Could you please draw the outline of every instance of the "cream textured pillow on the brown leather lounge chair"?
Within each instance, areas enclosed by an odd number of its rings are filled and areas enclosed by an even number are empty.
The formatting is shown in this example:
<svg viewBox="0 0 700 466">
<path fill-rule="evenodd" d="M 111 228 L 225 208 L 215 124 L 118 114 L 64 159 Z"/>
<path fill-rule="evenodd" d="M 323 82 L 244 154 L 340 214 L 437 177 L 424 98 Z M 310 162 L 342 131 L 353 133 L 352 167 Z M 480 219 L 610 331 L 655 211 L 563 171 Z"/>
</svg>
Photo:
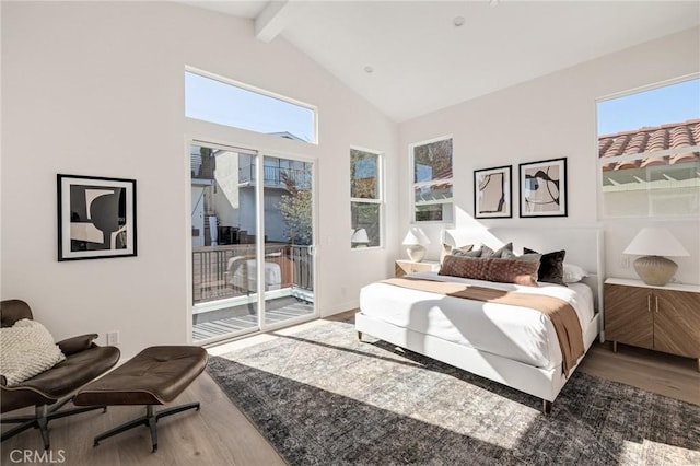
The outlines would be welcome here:
<svg viewBox="0 0 700 466">
<path fill-rule="evenodd" d="M 0 328 L 0 374 L 16 385 L 63 361 L 51 334 L 36 321 L 23 318 Z"/>
</svg>

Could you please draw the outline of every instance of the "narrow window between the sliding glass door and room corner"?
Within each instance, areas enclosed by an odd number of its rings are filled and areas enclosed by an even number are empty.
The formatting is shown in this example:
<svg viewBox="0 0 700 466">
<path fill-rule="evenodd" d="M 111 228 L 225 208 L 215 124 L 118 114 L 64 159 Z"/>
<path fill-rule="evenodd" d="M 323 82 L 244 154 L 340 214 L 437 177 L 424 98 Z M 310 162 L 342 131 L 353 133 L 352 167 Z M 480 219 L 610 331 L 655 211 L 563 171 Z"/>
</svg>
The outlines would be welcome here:
<svg viewBox="0 0 700 466">
<path fill-rule="evenodd" d="M 353 249 L 382 245 L 380 155 L 350 149 L 350 214 Z"/>
</svg>

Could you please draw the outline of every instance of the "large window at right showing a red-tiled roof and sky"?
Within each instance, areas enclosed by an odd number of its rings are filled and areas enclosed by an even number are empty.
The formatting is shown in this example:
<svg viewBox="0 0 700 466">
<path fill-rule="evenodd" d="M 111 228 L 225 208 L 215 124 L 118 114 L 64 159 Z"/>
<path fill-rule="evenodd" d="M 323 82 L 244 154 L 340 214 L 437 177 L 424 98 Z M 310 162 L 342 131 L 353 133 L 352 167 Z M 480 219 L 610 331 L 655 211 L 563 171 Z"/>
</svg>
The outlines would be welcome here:
<svg viewBox="0 0 700 466">
<path fill-rule="evenodd" d="M 597 103 L 602 217 L 700 214 L 700 79 Z"/>
</svg>

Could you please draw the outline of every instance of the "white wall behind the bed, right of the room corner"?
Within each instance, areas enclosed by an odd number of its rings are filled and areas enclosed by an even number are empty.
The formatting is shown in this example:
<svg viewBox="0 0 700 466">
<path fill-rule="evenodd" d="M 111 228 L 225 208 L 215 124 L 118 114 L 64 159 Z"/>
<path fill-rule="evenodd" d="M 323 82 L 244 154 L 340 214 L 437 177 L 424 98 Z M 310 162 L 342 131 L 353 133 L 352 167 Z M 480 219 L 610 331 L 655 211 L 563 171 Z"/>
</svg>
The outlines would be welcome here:
<svg viewBox="0 0 700 466">
<path fill-rule="evenodd" d="M 513 219 L 481 221 L 487 226 L 542 228 L 595 225 L 605 230 L 607 276 L 635 277 L 621 267 L 622 249 L 652 220 L 605 220 L 598 222 L 596 98 L 700 71 L 700 30 L 650 42 L 570 69 L 465 102 L 406 121 L 399 127 L 400 185 L 409 183 L 408 144 L 453 135 L 456 226 L 474 224 L 474 170 L 513 165 L 538 160 L 568 158 L 569 217 L 520 219 L 515 182 Z M 409 199 L 400 205 L 401 224 L 410 222 Z M 676 278 L 700 283 L 700 220 L 664 221 L 689 251 L 678 258 Z M 432 245 L 428 255 L 439 257 L 439 231 L 444 225 L 425 225 Z M 397 236 L 397 241 L 400 240 Z"/>
</svg>

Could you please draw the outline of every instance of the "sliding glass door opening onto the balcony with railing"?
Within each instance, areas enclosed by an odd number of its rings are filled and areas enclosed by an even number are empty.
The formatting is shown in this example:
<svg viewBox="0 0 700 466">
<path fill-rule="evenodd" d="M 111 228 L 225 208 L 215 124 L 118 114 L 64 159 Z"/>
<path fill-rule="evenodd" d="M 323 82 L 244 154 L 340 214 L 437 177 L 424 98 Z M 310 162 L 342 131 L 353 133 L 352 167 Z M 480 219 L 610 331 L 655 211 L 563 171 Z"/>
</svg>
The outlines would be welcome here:
<svg viewBox="0 0 700 466">
<path fill-rule="evenodd" d="M 192 340 L 315 316 L 313 164 L 192 144 Z"/>
</svg>

